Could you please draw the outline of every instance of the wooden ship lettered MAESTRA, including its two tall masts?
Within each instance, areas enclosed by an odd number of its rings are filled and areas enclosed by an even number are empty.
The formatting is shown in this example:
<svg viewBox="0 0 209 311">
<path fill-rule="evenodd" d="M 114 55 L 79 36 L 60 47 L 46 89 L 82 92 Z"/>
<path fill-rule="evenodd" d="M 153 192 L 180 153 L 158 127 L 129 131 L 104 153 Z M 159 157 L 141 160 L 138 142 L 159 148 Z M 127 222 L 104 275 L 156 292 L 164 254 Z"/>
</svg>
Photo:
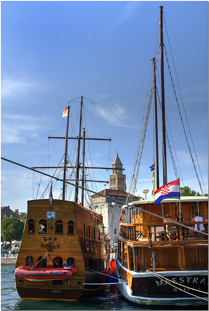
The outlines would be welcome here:
<svg viewBox="0 0 209 311">
<path fill-rule="evenodd" d="M 164 46 L 162 13 L 161 6 L 161 53 Z M 163 54 L 161 55 L 161 85 L 164 79 L 162 60 Z M 155 59 L 153 58 L 152 89 L 155 95 L 156 116 L 155 71 Z M 163 91 L 164 86 L 161 87 L 161 94 Z M 161 108 L 163 184 L 165 185 L 168 181 L 165 105 L 162 95 Z M 147 115 L 149 115 L 149 109 L 150 107 L 148 107 Z M 155 129 L 157 133 L 156 118 Z M 141 142 L 144 141 L 143 135 L 142 132 Z M 154 171 L 156 189 L 159 189 L 157 134 L 155 142 Z M 143 144 L 141 150 L 143 150 Z M 141 156 L 140 150 L 138 155 Z M 133 180 L 137 180 L 136 175 Z M 194 218 L 196 213 L 198 213 L 198 217 Z M 183 214 L 183 218 L 178 222 L 177 217 L 181 214 Z M 180 197 L 180 200 L 167 198 L 156 207 L 154 199 L 145 199 L 124 205 L 121 215 L 116 256 L 116 276 L 120 278 L 117 288 L 120 293 L 133 303 L 147 306 L 208 305 L 208 197 Z M 174 228 L 170 234 L 169 228 Z"/>
</svg>

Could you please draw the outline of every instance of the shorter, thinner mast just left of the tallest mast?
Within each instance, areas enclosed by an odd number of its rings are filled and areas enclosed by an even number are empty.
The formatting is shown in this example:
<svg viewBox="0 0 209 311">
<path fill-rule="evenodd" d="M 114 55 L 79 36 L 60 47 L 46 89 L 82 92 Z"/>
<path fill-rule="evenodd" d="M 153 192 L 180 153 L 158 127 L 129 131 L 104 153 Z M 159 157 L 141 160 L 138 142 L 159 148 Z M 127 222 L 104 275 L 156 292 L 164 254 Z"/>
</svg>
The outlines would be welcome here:
<svg viewBox="0 0 209 311">
<path fill-rule="evenodd" d="M 159 188 L 159 163 L 158 163 L 158 132 L 157 132 L 157 94 L 156 94 L 156 67 L 155 58 L 153 58 L 154 70 L 154 116 L 155 116 L 155 180 L 156 189 Z"/>
</svg>

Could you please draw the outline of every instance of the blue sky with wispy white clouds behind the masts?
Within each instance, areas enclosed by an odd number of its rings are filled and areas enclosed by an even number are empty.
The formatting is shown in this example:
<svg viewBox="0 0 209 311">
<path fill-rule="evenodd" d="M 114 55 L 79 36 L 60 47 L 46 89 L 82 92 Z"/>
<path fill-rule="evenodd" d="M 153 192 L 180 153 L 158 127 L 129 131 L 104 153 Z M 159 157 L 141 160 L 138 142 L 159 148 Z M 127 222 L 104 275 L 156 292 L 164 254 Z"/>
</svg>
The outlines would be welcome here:
<svg viewBox="0 0 209 311">
<path fill-rule="evenodd" d="M 191 153 L 197 156 L 195 166 L 208 193 L 208 1 L 1 1 L 1 156 L 28 167 L 43 163 L 48 136 L 63 123 L 62 111 L 69 101 L 84 96 L 95 103 L 85 103 L 97 124 L 91 131 L 95 137 L 112 139 L 104 147 L 99 143 L 110 159 L 101 163 L 103 157 L 95 153 L 94 163 L 112 166 L 117 150 L 128 190 L 161 5 L 179 100 L 182 97 L 184 103 L 180 110 L 190 125 Z M 168 67 L 165 88 L 180 186 L 201 193 Z M 79 103 L 70 105 L 73 113 Z M 142 190 L 148 189 L 148 198 L 152 198 L 152 127 L 151 116 L 135 192 L 144 197 Z M 64 136 L 64 126 L 57 133 Z M 186 133 L 189 137 L 188 127 Z M 173 181 L 168 150 L 167 158 L 168 181 Z M 27 211 L 37 183 L 31 171 L 1 160 L 1 206 Z M 96 190 L 103 189 L 100 184 Z"/>
</svg>

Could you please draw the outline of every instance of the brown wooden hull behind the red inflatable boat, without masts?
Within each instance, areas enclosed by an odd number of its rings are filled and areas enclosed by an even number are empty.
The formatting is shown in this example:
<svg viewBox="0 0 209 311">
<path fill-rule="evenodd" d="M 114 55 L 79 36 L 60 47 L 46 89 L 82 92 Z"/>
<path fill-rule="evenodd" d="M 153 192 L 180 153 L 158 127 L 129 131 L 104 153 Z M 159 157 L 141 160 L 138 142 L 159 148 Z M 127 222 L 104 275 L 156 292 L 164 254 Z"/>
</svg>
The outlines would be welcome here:
<svg viewBox="0 0 209 311">
<path fill-rule="evenodd" d="M 49 214 L 55 216 L 53 220 L 47 218 Z M 39 268 L 42 263 L 47 269 L 73 265 L 77 273 L 67 280 L 41 282 L 16 275 L 19 296 L 25 300 L 78 300 L 103 287 L 110 258 L 103 227 L 99 215 L 75 202 L 53 200 L 50 205 L 49 200 L 28 201 L 16 268 L 30 264 Z"/>
</svg>

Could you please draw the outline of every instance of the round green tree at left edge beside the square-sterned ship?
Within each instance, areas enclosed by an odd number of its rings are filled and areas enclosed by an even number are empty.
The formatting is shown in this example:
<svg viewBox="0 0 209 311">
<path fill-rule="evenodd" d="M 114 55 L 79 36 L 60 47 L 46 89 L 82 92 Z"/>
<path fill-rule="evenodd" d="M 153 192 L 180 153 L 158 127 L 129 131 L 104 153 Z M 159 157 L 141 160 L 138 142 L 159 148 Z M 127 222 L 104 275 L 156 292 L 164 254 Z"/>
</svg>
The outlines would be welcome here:
<svg viewBox="0 0 209 311">
<path fill-rule="evenodd" d="M 21 240 L 24 229 L 24 222 L 15 217 L 6 217 L 1 221 L 1 235 L 5 241 L 9 242 L 11 248 L 11 242 L 13 240 Z"/>
</svg>

